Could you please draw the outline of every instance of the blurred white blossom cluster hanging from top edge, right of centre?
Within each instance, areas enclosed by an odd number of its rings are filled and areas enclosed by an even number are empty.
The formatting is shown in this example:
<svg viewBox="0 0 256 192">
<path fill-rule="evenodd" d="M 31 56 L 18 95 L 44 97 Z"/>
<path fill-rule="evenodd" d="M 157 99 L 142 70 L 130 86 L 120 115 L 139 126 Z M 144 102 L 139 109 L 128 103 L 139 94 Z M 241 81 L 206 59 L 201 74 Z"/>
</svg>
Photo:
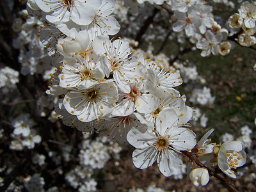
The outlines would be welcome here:
<svg viewBox="0 0 256 192">
<path fill-rule="evenodd" d="M 142 3 L 142 1 L 138 1 Z M 153 1 L 150 1 L 153 3 Z M 163 4 L 164 1 L 154 1 Z M 211 54 L 226 55 L 230 52 L 231 44 L 227 40 L 228 31 L 221 28 L 214 20 L 212 6 L 204 1 L 166 1 L 168 10 L 173 12 L 172 29 L 175 32 L 184 31 L 197 49 L 202 49 L 201 56 Z"/>
</svg>

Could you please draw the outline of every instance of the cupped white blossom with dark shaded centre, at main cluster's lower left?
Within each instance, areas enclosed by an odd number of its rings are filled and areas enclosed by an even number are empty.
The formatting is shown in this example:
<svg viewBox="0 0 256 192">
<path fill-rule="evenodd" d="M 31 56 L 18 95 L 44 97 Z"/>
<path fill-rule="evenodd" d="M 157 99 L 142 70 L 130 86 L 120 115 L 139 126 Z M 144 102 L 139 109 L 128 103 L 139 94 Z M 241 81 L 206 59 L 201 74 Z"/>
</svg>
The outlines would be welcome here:
<svg viewBox="0 0 256 192">
<path fill-rule="evenodd" d="M 103 82 L 92 88 L 73 88 L 67 92 L 63 104 L 71 115 L 82 122 L 90 122 L 113 111 L 118 100 L 116 84 Z"/>
</svg>

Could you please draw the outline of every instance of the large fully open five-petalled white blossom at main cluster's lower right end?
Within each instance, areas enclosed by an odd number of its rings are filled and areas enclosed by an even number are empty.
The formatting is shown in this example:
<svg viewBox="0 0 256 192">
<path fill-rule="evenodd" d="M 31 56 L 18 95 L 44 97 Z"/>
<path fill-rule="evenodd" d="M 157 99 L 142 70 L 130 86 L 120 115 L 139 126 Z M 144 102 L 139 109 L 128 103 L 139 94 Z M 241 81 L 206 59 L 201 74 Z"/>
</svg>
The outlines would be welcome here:
<svg viewBox="0 0 256 192">
<path fill-rule="evenodd" d="M 136 150 L 132 161 L 137 168 L 145 169 L 157 161 L 164 176 L 177 175 L 181 171 L 182 161 L 175 151 L 188 150 L 196 145 L 195 133 L 177 125 L 178 116 L 173 109 L 159 113 L 156 127 L 132 127 L 127 141 Z M 172 116 L 172 118 L 170 118 Z"/>
</svg>

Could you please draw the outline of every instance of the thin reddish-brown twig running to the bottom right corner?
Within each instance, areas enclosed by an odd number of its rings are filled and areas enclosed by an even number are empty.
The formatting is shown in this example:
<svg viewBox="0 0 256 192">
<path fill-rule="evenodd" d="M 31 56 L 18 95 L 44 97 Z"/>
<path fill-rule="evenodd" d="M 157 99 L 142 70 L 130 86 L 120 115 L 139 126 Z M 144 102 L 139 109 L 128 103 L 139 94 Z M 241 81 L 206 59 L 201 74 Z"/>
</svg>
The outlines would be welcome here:
<svg viewBox="0 0 256 192">
<path fill-rule="evenodd" d="M 216 179 L 220 180 L 222 184 L 227 186 L 229 191 L 237 192 L 237 189 L 232 186 L 231 182 L 228 182 L 226 179 L 224 179 L 223 177 L 221 177 L 220 175 L 215 173 L 214 172 L 215 170 L 213 168 L 211 168 L 209 166 L 205 166 L 205 164 L 201 163 L 199 161 L 199 159 L 197 158 L 197 155 L 195 153 L 183 150 L 182 154 L 184 154 L 185 156 L 189 157 L 189 159 L 191 161 L 195 162 L 198 166 L 203 167 L 203 168 L 207 168 L 207 170 L 209 172 L 209 175 L 211 175 L 211 176 L 215 177 Z"/>
</svg>

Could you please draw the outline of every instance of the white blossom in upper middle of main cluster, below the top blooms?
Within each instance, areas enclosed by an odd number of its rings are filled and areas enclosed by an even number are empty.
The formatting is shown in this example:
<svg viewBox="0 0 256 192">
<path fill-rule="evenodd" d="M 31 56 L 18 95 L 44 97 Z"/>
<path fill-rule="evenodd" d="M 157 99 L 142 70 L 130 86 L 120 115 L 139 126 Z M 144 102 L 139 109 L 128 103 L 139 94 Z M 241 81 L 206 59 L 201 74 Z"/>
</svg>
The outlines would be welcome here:
<svg viewBox="0 0 256 192">
<path fill-rule="evenodd" d="M 122 92 L 131 92 L 128 81 L 140 77 L 142 66 L 140 63 L 129 59 L 129 55 L 132 53 L 129 42 L 120 39 L 111 42 L 106 36 L 97 36 L 93 40 L 93 49 L 99 56 L 106 56 L 106 62 L 99 62 L 99 68 L 102 72 L 107 77 L 109 74 L 113 74 L 113 78 Z"/>
</svg>

